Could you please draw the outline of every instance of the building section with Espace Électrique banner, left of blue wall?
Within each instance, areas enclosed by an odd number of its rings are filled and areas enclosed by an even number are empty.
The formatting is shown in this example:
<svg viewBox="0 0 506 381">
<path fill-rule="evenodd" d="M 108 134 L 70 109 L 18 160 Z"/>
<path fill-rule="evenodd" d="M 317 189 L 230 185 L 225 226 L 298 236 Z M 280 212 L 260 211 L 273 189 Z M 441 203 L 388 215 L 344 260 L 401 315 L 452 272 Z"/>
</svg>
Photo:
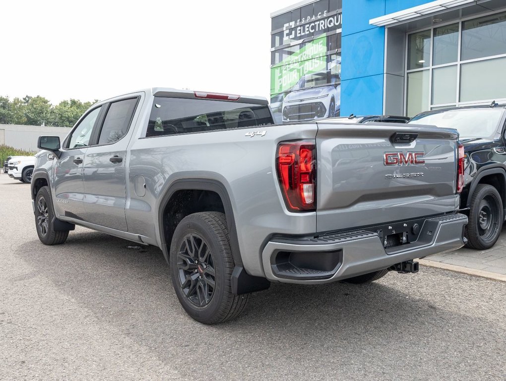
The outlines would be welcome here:
<svg viewBox="0 0 506 381">
<path fill-rule="evenodd" d="M 342 0 L 318 0 L 272 18 L 275 122 L 339 116 Z"/>
</svg>

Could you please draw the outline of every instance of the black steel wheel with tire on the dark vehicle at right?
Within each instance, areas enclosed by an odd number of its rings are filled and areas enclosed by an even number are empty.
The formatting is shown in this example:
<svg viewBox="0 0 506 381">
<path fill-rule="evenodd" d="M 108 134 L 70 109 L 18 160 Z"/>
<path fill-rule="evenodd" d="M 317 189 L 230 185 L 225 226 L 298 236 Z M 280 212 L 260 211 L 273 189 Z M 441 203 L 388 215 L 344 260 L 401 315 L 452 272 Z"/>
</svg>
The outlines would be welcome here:
<svg viewBox="0 0 506 381">
<path fill-rule="evenodd" d="M 478 184 L 470 202 L 466 246 L 479 250 L 492 247 L 499 238 L 503 221 L 502 201 L 497 189 Z"/>
</svg>

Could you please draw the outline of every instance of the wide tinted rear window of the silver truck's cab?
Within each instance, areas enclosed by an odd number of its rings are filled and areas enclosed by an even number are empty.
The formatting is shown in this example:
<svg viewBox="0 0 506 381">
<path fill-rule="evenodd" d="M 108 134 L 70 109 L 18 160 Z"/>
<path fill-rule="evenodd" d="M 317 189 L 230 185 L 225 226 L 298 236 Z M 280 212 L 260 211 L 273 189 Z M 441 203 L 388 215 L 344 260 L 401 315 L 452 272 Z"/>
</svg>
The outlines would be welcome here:
<svg viewBox="0 0 506 381">
<path fill-rule="evenodd" d="M 155 97 L 146 137 L 274 124 L 267 105 Z"/>
</svg>

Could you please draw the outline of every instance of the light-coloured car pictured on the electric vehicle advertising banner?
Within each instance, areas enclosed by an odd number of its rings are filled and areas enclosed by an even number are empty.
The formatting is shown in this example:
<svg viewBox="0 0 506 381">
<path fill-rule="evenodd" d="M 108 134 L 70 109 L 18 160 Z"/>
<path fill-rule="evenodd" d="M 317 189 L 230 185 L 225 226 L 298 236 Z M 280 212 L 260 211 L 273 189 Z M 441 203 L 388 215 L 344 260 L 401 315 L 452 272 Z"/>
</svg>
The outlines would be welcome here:
<svg viewBox="0 0 506 381">
<path fill-rule="evenodd" d="M 302 76 L 283 100 L 283 123 L 339 116 L 341 84 L 338 81 L 339 75 L 330 70 Z"/>
</svg>

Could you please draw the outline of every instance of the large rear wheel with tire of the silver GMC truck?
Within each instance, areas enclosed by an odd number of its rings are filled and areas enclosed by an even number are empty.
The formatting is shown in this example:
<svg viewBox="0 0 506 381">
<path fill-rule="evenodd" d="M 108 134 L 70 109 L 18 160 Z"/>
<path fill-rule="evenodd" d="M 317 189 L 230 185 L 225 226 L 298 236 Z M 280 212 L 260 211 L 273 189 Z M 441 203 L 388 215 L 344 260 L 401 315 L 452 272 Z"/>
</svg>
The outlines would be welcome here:
<svg viewBox="0 0 506 381">
<path fill-rule="evenodd" d="M 204 324 L 235 318 L 248 295 L 232 293 L 234 260 L 223 213 L 186 216 L 176 227 L 169 258 L 176 295 L 185 311 Z"/>
</svg>

